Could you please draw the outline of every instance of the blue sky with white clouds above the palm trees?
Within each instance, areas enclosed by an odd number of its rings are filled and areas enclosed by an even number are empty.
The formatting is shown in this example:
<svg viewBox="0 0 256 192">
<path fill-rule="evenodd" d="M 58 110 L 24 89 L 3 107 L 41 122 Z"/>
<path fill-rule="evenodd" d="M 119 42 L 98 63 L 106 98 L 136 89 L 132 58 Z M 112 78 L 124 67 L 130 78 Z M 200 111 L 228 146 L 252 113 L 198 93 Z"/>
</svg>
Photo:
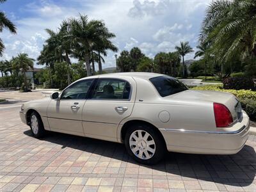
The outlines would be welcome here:
<svg viewBox="0 0 256 192">
<path fill-rule="evenodd" d="M 79 13 L 106 22 L 116 34 L 114 44 L 121 51 L 137 46 L 154 58 L 157 52 L 174 51 L 180 41 L 196 47 L 200 24 L 211 0 L 8 0 L 0 4 L 17 26 L 17 35 L 0 34 L 6 50 L 1 60 L 19 52 L 31 58 L 40 54 L 47 38 L 45 28 L 56 30 L 63 19 Z M 106 67 L 115 66 L 115 53 L 109 52 Z M 186 59 L 193 58 L 193 54 Z"/>
</svg>

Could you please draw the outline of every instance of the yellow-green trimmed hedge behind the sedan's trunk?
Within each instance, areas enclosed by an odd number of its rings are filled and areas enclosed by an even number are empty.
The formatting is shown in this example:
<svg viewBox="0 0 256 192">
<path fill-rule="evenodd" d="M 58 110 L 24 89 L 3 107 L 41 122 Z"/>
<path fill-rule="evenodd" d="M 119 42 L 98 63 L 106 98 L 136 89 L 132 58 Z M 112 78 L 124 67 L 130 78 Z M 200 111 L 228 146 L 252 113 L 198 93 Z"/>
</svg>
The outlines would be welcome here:
<svg viewBox="0 0 256 192">
<path fill-rule="evenodd" d="M 222 85 L 196 86 L 191 90 L 227 92 L 236 95 L 241 101 L 244 111 L 252 120 L 256 120 L 256 92 L 252 90 L 225 90 Z"/>
</svg>

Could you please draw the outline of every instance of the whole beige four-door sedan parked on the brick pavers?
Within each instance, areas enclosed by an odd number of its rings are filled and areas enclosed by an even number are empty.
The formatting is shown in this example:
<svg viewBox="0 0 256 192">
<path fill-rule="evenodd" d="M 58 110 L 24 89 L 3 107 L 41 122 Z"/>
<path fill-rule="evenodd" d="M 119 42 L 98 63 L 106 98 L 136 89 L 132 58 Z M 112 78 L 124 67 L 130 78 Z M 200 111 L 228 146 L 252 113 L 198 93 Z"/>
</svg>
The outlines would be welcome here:
<svg viewBox="0 0 256 192">
<path fill-rule="evenodd" d="M 146 164 L 166 150 L 236 154 L 249 132 L 234 95 L 193 91 L 173 77 L 140 72 L 79 79 L 51 98 L 22 104 L 20 118 L 36 138 L 55 131 L 125 143 Z"/>
</svg>

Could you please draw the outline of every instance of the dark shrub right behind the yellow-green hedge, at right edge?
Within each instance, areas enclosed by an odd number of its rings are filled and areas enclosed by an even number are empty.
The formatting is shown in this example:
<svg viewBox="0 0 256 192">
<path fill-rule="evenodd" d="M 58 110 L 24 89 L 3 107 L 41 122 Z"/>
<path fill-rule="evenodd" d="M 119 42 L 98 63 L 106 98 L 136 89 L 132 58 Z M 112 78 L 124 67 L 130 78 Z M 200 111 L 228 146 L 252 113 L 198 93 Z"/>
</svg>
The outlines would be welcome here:
<svg viewBox="0 0 256 192">
<path fill-rule="evenodd" d="M 255 77 L 227 77 L 223 79 L 223 88 L 227 90 L 256 90 Z"/>
</svg>

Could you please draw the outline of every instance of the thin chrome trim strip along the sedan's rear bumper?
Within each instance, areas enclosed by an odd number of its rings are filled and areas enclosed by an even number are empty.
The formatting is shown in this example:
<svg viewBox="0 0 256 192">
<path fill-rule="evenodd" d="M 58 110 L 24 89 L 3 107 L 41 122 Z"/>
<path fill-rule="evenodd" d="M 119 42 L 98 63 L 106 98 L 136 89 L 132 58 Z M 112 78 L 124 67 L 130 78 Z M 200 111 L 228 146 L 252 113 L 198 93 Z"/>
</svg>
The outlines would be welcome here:
<svg viewBox="0 0 256 192">
<path fill-rule="evenodd" d="M 187 132 L 187 133 L 207 133 L 207 134 L 238 134 L 243 132 L 244 129 L 250 129 L 248 125 L 243 125 L 241 129 L 237 131 L 193 131 L 193 130 L 185 130 L 185 129 L 159 129 L 161 131 L 172 131 L 172 132 Z M 246 130 L 248 131 L 248 130 Z"/>
</svg>

